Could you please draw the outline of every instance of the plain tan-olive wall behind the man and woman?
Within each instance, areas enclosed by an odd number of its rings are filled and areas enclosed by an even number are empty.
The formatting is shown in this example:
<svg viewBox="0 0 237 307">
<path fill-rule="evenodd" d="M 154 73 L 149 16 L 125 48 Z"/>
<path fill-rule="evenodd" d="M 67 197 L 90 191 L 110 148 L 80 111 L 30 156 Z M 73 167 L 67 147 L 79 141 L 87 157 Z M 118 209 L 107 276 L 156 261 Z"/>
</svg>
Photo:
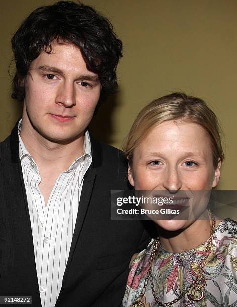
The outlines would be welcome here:
<svg viewBox="0 0 237 307">
<path fill-rule="evenodd" d="M 34 8 L 49 0 L 1 2 L 0 140 L 21 114 L 10 98 L 10 38 Z M 92 129 L 116 147 L 139 110 L 152 99 L 185 91 L 205 99 L 225 132 L 226 161 L 219 189 L 236 189 L 237 1 L 84 0 L 106 15 L 124 44 L 120 93 L 97 114 Z"/>
</svg>

